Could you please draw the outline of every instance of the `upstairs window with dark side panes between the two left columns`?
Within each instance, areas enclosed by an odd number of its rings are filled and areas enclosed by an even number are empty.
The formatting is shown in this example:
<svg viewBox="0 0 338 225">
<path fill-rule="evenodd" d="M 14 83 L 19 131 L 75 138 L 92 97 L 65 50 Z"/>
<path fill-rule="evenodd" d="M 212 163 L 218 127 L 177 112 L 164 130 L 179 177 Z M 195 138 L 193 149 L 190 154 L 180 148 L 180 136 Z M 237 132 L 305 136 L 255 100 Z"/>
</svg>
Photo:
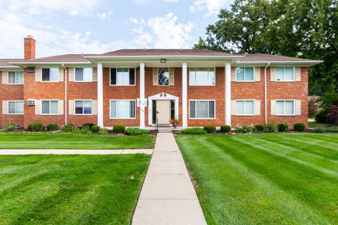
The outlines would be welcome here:
<svg viewBox="0 0 338 225">
<path fill-rule="evenodd" d="M 111 85 L 135 85 L 135 68 L 111 68 Z"/>
</svg>

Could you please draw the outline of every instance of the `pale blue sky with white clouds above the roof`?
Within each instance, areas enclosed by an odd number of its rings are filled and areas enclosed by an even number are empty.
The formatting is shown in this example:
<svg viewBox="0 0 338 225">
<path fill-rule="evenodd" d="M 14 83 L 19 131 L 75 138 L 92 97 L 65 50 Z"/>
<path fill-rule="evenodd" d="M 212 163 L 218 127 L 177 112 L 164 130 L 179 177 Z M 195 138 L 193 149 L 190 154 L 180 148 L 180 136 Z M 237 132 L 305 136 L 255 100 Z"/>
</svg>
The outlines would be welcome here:
<svg viewBox="0 0 338 225">
<path fill-rule="evenodd" d="M 232 1 L 1 0 L 0 58 L 23 58 L 27 34 L 37 40 L 37 57 L 192 48 Z"/>
</svg>

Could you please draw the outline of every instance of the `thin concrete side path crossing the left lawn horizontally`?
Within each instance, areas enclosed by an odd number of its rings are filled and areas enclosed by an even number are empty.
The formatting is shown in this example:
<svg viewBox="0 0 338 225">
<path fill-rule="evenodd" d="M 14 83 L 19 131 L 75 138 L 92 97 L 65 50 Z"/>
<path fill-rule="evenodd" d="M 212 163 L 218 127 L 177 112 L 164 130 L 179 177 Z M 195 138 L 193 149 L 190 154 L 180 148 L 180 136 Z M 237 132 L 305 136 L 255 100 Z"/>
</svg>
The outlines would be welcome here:
<svg viewBox="0 0 338 225">
<path fill-rule="evenodd" d="M 0 149 L 0 155 L 120 155 L 137 153 L 151 155 L 153 153 L 153 149 Z"/>
</svg>

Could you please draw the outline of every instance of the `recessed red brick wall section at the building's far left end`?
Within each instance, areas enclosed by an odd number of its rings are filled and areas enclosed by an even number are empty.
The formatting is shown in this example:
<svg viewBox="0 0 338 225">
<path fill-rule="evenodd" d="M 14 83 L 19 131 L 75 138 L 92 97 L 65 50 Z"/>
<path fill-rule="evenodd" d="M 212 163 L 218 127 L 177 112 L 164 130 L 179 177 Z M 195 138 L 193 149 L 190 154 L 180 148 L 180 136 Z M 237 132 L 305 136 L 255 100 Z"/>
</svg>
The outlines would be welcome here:
<svg viewBox="0 0 338 225">
<path fill-rule="evenodd" d="M 23 115 L 2 114 L 2 101 L 8 100 L 23 101 L 23 85 L 2 84 L 2 72 L 0 71 L 0 127 L 9 123 L 23 126 Z"/>
</svg>

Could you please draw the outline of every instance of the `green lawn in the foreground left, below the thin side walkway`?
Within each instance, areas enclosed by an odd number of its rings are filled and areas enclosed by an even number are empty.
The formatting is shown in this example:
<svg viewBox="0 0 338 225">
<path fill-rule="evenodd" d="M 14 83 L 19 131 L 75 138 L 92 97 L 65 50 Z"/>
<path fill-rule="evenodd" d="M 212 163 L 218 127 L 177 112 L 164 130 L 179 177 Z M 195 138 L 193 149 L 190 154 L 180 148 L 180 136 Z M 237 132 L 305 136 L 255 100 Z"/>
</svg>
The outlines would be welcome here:
<svg viewBox="0 0 338 225">
<path fill-rule="evenodd" d="M 149 160 L 0 156 L 0 224 L 130 224 Z"/>
</svg>

